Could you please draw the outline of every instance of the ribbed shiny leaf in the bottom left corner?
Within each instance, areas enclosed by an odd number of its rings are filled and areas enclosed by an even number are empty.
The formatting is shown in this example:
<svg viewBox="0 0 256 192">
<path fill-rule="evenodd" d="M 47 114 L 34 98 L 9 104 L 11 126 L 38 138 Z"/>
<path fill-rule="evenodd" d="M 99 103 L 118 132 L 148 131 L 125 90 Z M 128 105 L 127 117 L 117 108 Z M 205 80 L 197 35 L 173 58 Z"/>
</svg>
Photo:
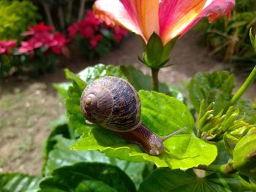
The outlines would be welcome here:
<svg viewBox="0 0 256 192">
<path fill-rule="evenodd" d="M 4 192 L 36 192 L 39 189 L 38 177 L 27 174 L 0 174 L 0 191 Z"/>
</svg>

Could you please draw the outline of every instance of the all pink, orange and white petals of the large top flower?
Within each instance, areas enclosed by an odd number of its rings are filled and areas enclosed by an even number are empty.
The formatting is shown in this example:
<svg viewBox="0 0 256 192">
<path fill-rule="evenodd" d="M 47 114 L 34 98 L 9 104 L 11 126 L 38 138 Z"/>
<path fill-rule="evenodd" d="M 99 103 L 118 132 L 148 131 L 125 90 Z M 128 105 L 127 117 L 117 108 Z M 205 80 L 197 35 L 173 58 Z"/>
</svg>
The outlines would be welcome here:
<svg viewBox="0 0 256 192">
<path fill-rule="evenodd" d="M 148 42 L 155 32 L 164 45 L 188 31 L 200 18 L 210 22 L 222 15 L 230 17 L 235 0 L 98 0 L 97 18 L 121 25 Z"/>
</svg>

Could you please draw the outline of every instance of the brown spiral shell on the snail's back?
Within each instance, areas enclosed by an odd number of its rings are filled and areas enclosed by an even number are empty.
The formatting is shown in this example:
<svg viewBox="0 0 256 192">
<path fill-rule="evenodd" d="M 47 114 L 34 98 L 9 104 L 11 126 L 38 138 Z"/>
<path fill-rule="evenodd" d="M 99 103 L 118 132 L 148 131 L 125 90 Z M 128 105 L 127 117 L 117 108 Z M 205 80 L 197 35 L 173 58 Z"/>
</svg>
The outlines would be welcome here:
<svg viewBox="0 0 256 192">
<path fill-rule="evenodd" d="M 83 91 L 80 107 L 91 123 L 113 131 L 131 131 L 140 126 L 140 99 L 129 82 L 102 77 Z"/>
</svg>

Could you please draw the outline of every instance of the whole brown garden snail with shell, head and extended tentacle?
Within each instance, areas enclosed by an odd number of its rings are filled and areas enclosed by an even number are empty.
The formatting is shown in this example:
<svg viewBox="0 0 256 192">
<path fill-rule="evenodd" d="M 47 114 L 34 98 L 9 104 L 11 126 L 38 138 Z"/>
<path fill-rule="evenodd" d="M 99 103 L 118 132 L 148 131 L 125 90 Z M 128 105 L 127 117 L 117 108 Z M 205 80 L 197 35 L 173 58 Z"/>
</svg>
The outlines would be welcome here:
<svg viewBox="0 0 256 192">
<path fill-rule="evenodd" d="M 149 155 L 165 151 L 163 142 L 185 128 L 166 136 L 158 137 L 141 123 L 140 99 L 129 82 L 118 77 L 102 77 L 91 82 L 80 99 L 83 116 L 121 135 L 128 142 L 140 145 Z"/>
</svg>

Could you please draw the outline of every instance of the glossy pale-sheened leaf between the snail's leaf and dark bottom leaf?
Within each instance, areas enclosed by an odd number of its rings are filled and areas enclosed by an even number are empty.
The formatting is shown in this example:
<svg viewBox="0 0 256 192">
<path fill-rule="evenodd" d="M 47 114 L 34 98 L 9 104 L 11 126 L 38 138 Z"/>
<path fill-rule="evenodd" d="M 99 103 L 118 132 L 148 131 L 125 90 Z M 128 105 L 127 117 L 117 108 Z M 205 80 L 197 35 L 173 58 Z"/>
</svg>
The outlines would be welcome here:
<svg viewBox="0 0 256 192">
<path fill-rule="evenodd" d="M 98 151 L 78 151 L 70 150 L 70 146 L 74 145 L 75 139 L 67 139 L 61 135 L 56 136 L 56 145 L 54 149 L 50 151 L 48 159 L 46 161 L 43 174 L 50 175 L 54 169 L 58 169 L 61 166 L 68 166 L 78 162 L 102 162 L 118 166 L 124 172 L 126 172 L 135 185 L 139 185 L 143 180 L 143 170 L 146 167 L 144 163 L 133 163 L 129 161 L 121 161 L 117 158 L 108 158 L 103 153 Z"/>
</svg>

